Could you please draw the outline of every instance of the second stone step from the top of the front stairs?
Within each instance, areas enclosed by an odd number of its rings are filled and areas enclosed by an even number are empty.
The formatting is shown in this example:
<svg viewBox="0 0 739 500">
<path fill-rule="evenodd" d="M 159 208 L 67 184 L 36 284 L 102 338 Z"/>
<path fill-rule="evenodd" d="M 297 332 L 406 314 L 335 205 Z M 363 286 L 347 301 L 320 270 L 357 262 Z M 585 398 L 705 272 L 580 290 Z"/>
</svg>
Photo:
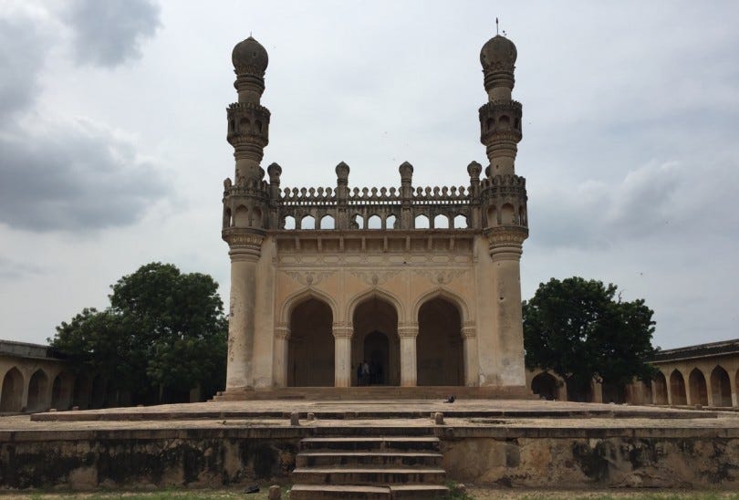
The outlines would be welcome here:
<svg viewBox="0 0 739 500">
<path fill-rule="evenodd" d="M 426 466 L 439 467 L 443 455 L 431 452 L 305 452 L 297 453 L 297 467 L 320 467 L 325 465 L 362 466 Z"/>
</svg>

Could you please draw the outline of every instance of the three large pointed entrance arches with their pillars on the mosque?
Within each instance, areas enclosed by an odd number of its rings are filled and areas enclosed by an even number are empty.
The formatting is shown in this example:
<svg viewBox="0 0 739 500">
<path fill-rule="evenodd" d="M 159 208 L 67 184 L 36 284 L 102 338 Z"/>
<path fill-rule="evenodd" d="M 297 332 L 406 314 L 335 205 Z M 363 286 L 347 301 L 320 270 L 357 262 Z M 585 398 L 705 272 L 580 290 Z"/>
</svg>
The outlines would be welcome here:
<svg viewBox="0 0 739 500">
<path fill-rule="evenodd" d="M 308 289 L 290 297 L 276 331 L 276 386 L 475 385 L 467 359 L 476 353 L 459 297 L 435 290 L 406 318 L 403 303 L 380 289 L 349 301 Z M 476 368 L 476 367 L 475 367 Z"/>
</svg>

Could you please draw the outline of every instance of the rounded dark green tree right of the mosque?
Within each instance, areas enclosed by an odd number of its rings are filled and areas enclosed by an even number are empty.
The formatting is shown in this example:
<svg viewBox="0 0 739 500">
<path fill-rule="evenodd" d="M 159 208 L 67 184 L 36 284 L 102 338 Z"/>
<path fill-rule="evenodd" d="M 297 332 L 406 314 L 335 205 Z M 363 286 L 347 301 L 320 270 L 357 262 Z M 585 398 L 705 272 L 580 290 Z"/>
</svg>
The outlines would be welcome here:
<svg viewBox="0 0 739 500">
<path fill-rule="evenodd" d="M 615 285 L 552 278 L 524 301 L 523 314 L 526 366 L 561 375 L 569 399 L 582 399 L 593 379 L 622 390 L 653 376 L 643 359 L 654 352 L 654 312 L 643 299 L 621 300 Z"/>
</svg>

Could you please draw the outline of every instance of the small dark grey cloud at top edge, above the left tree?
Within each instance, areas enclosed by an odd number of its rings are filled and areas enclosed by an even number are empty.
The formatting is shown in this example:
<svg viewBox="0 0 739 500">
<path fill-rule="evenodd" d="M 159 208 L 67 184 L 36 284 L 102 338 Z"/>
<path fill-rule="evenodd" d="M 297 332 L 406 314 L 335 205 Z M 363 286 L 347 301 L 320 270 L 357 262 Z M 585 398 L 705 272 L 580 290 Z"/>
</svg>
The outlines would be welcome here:
<svg viewBox="0 0 739 500">
<path fill-rule="evenodd" d="M 161 25 L 150 0 L 73 0 L 65 18 L 78 63 L 104 67 L 141 57 L 141 43 Z"/>
</svg>

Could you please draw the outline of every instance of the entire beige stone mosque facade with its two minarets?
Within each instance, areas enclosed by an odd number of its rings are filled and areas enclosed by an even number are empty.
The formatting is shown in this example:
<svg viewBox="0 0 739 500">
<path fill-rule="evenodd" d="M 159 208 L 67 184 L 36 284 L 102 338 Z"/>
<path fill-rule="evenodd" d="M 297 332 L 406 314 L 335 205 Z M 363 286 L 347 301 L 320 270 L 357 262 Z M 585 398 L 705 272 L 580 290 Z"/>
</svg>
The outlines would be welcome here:
<svg viewBox="0 0 739 500">
<path fill-rule="evenodd" d="M 265 172 L 261 164 L 270 125 L 261 104 L 266 50 L 250 36 L 232 58 L 238 101 L 227 109 L 227 139 L 235 174 L 224 181 L 222 231 L 231 298 L 219 397 L 367 384 L 358 370 L 365 362 L 378 386 L 530 393 L 515 45 L 494 36 L 482 48 L 480 141 L 489 166 L 472 161 L 459 186 L 415 185 L 404 162 L 399 185 L 352 187 L 340 162 L 333 186 L 283 187 L 282 168 L 272 163 Z"/>
</svg>

